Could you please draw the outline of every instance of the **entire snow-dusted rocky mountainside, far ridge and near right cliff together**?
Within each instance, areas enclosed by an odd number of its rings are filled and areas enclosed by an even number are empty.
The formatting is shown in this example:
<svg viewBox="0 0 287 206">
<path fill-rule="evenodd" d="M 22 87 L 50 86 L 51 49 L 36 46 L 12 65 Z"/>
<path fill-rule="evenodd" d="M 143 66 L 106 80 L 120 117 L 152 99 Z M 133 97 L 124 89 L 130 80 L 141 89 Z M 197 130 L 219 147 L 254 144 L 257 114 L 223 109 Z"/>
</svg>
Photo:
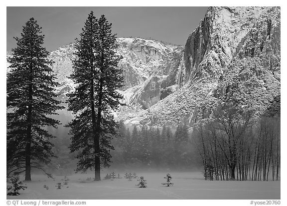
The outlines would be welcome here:
<svg viewBox="0 0 287 206">
<path fill-rule="evenodd" d="M 119 92 L 127 106 L 115 117 L 129 125 L 192 126 L 196 106 L 223 95 L 228 86 L 222 84 L 244 64 L 250 72 L 243 78 L 252 79 L 253 86 L 243 87 L 261 89 L 263 109 L 274 104 L 280 109 L 280 22 L 280 7 L 210 7 L 184 47 L 118 38 L 117 53 L 123 57 L 118 66 L 125 81 Z M 75 86 L 67 78 L 73 53 L 71 44 L 50 54 L 61 100 Z"/>
</svg>

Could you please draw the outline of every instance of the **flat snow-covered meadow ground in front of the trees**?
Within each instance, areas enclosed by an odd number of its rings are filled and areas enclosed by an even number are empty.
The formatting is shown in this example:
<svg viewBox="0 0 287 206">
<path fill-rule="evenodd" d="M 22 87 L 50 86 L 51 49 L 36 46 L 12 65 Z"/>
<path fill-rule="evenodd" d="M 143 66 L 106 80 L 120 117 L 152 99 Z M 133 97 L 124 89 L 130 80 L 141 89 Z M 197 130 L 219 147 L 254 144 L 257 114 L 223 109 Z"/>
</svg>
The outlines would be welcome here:
<svg viewBox="0 0 287 206">
<path fill-rule="evenodd" d="M 131 171 L 132 172 L 132 171 Z M 106 200 L 106 199 L 280 199 L 280 181 L 205 181 L 201 173 L 171 172 L 172 187 L 164 187 L 164 172 L 137 173 L 144 176 L 147 188 L 138 188 L 137 179 L 87 181 L 92 174 L 68 176 L 69 188 L 56 189 L 56 183 L 64 176 L 55 176 L 55 181 L 43 175 L 33 175 L 27 189 L 20 196 L 7 196 L 7 199 L 64 199 L 64 200 Z M 120 173 L 123 177 L 124 173 Z M 102 172 L 102 179 L 105 172 Z M 22 177 L 22 176 L 21 176 Z M 49 190 L 43 186 L 47 185 Z"/>
</svg>

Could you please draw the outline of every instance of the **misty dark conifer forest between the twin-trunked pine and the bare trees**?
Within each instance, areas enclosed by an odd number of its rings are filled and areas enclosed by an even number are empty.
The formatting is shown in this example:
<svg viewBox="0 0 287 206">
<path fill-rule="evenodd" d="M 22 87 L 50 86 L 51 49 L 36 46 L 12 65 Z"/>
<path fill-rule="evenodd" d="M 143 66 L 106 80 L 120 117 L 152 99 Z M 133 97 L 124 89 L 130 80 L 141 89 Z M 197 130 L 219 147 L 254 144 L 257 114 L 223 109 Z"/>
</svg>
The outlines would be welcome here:
<svg viewBox="0 0 287 206">
<path fill-rule="evenodd" d="M 130 130 L 131 129 L 131 130 Z M 163 127 L 126 127 L 120 121 L 119 136 L 113 140 L 113 165 L 145 168 L 192 168 L 196 162 L 188 126 L 180 124 L 172 132 Z"/>
</svg>

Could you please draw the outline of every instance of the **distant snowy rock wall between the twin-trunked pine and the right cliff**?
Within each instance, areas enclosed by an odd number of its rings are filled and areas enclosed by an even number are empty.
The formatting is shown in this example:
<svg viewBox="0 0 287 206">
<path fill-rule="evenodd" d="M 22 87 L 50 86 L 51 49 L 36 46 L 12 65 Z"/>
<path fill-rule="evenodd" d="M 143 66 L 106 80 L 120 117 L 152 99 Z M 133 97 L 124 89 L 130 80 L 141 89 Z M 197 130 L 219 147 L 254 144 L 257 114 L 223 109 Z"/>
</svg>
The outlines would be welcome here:
<svg viewBox="0 0 287 206">
<path fill-rule="evenodd" d="M 176 69 L 180 60 L 178 53 L 181 50 L 181 47 L 155 40 L 118 38 L 117 51 L 123 56 L 119 67 L 123 68 L 125 76 L 125 86 L 121 90 L 135 86 L 133 90 L 137 91 L 133 100 L 127 103 L 138 103 L 143 108 L 156 103 L 161 90 L 176 83 Z"/>
</svg>

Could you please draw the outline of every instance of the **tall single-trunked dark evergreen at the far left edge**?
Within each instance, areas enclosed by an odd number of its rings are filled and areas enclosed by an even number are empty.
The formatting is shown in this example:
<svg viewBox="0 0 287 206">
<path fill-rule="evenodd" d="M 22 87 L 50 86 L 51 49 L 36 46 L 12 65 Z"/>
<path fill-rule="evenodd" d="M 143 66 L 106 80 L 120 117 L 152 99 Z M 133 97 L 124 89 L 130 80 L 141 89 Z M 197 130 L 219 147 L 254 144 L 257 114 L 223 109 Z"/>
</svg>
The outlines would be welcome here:
<svg viewBox="0 0 287 206">
<path fill-rule="evenodd" d="M 63 107 L 55 98 L 57 83 L 52 74 L 52 61 L 42 47 L 44 35 L 34 18 L 23 26 L 17 47 L 8 58 L 7 74 L 7 172 L 20 169 L 25 180 L 31 180 L 31 168 L 42 168 L 53 156 L 49 141 L 54 137 L 44 127 L 56 128 L 59 121 L 51 118 Z M 43 170 L 44 171 L 44 170 Z M 45 171 L 44 171 L 45 172 Z"/>
</svg>

